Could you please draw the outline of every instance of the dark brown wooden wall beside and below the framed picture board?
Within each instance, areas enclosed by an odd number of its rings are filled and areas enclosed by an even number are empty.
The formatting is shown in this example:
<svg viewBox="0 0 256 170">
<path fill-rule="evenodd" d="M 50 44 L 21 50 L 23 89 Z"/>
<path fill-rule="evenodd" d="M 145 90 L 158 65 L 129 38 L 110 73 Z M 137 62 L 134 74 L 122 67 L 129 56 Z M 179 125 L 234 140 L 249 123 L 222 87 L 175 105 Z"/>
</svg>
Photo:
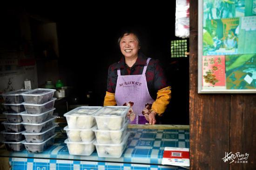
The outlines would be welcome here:
<svg viewBox="0 0 256 170">
<path fill-rule="evenodd" d="M 253 170 L 256 162 L 256 95 L 198 94 L 198 0 L 190 0 L 189 119 L 191 170 Z M 222 160 L 249 153 L 248 163 Z"/>
</svg>

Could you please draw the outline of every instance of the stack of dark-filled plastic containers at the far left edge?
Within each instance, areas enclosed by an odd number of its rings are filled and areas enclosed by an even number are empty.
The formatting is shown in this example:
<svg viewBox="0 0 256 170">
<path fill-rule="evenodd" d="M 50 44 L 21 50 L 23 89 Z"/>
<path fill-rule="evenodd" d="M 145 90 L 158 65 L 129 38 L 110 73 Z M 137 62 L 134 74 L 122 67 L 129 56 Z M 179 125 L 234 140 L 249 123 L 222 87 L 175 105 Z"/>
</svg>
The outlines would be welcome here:
<svg viewBox="0 0 256 170">
<path fill-rule="evenodd" d="M 25 149 L 24 144 L 22 144 L 22 140 L 25 139 L 22 132 L 25 129 L 21 124 L 21 114 L 24 113 L 25 108 L 24 105 L 22 105 L 24 100 L 21 94 L 27 91 L 28 90 L 17 90 L 2 94 L 5 100 L 3 105 L 7 111 L 3 114 L 6 116 L 7 121 L 2 122 L 6 130 L 1 131 L 1 133 L 4 136 L 4 143 L 6 144 L 7 150 L 21 151 Z"/>
</svg>

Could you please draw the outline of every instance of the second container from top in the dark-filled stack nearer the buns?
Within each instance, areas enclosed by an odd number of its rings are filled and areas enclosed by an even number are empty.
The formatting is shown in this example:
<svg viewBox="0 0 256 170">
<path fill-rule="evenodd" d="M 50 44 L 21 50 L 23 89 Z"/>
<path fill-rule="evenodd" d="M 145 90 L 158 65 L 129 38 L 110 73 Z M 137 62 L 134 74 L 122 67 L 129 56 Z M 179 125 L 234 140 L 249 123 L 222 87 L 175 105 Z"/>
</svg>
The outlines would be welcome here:
<svg viewBox="0 0 256 170">
<path fill-rule="evenodd" d="M 52 98 L 50 101 L 44 104 L 29 104 L 22 103 L 27 111 L 27 114 L 40 114 L 54 108 L 54 102 L 57 98 Z"/>
</svg>

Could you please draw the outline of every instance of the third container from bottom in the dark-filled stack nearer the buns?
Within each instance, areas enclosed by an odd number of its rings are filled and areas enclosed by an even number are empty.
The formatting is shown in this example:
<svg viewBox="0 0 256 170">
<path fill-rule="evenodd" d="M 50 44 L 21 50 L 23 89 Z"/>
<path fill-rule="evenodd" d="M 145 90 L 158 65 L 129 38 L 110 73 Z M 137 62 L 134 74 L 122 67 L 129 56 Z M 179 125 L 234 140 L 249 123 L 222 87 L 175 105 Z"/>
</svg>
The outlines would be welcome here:
<svg viewBox="0 0 256 170">
<path fill-rule="evenodd" d="M 55 116 L 55 117 L 49 118 L 40 124 L 28 124 L 28 123 L 24 123 L 24 122 L 21 122 L 21 124 L 24 125 L 27 133 L 40 133 L 40 132 L 46 131 L 47 129 L 50 129 L 51 127 L 53 127 L 55 118 L 57 118 L 57 117 Z"/>
</svg>

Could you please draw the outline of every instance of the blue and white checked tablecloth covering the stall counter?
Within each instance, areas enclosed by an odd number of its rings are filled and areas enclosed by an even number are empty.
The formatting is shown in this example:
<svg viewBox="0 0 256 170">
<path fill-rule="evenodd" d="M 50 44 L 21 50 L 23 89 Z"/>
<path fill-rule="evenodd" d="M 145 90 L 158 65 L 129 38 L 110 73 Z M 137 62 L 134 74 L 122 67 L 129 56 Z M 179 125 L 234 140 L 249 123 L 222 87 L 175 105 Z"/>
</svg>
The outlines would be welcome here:
<svg viewBox="0 0 256 170">
<path fill-rule="evenodd" d="M 91 156 L 68 154 L 61 133 L 55 144 L 42 153 L 0 151 L 10 157 L 12 170 L 185 170 L 163 166 L 164 147 L 189 148 L 189 130 L 129 129 L 128 146 L 120 158 L 102 158 L 96 150 Z M 8 154 L 7 154 L 8 153 Z"/>
</svg>

